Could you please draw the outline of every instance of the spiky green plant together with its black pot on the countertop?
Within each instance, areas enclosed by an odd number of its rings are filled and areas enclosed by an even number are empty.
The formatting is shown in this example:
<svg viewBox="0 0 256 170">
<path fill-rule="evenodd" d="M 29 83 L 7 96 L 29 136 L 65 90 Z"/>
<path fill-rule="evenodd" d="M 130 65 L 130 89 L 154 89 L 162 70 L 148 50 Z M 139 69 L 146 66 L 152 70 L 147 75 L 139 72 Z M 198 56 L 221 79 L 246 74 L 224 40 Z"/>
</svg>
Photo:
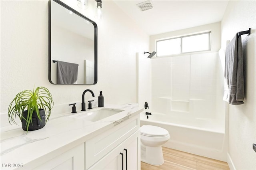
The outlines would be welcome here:
<svg viewBox="0 0 256 170">
<path fill-rule="evenodd" d="M 25 131 L 43 128 L 49 120 L 54 103 L 52 95 L 46 87 L 24 90 L 14 97 L 8 108 L 9 123 L 16 123 L 18 116 Z"/>
</svg>

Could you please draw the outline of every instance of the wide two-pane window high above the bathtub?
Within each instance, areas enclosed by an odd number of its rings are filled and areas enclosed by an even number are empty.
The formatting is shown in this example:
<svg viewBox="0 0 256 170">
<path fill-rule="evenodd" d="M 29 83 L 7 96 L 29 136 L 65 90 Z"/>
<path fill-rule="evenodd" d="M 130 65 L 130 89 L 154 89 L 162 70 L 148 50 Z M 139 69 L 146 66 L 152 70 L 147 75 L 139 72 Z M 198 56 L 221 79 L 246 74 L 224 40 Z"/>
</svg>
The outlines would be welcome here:
<svg viewBox="0 0 256 170">
<path fill-rule="evenodd" d="M 211 32 L 156 41 L 157 56 L 211 50 Z"/>
</svg>

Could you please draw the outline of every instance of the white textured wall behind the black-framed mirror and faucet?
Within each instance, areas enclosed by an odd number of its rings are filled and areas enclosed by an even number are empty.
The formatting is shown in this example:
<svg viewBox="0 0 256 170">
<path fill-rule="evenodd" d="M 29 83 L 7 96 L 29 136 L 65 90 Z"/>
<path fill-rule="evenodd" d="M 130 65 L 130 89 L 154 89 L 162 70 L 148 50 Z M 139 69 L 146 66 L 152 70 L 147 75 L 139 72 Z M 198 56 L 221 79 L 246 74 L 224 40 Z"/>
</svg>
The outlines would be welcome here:
<svg viewBox="0 0 256 170">
<path fill-rule="evenodd" d="M 75 1 L 76 2 L 76 1 Z M 95 1 L 90 1 L 94 3 Z M 149 48 L 149 36 L 112 1 L 102 2 L 98 24 L 98 83 L 52 85 L 48 81 L 48 1 L 0 1 L 1 5 L 1 117 L 15 95 L 33 87 L 47 87 L 54 108 L 77 102 L 82 92 L 103 91 L 106 103 L 137 102 L 136 53 Z M 90 8 L 90 6 L 89 6 Z M 96 2 L 95 2 L 96 8 Z M 88 9 L 90 11 L 90 9 Z M 92 18 L 94 20 L 94 18 Z M 92 98 L 86 93 L 86 99 Z M 56 114 L 58 111 L 52 112 Z M 8 124 L 1 119 L 1 126 Z"/>
</svg>

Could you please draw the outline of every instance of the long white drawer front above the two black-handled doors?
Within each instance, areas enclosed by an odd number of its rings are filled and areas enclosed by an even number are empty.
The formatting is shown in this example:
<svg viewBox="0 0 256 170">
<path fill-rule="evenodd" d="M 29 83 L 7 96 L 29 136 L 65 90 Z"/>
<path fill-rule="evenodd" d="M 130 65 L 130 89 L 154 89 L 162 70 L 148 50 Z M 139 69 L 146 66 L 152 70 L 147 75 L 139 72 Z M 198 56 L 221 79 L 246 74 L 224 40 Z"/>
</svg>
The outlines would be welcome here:
<svg viewBox="0 0 256 170">
<path fill-rule="evenodd" d="M 110 130 L 86 141 L 84 143 L 86 169 L 108 154 L 108 152 L 126 140 L 131 134 L 136 132 L 136 130 L 140 128 L 139 121 L 138 116 L 131 117 Z"/>
</svg>

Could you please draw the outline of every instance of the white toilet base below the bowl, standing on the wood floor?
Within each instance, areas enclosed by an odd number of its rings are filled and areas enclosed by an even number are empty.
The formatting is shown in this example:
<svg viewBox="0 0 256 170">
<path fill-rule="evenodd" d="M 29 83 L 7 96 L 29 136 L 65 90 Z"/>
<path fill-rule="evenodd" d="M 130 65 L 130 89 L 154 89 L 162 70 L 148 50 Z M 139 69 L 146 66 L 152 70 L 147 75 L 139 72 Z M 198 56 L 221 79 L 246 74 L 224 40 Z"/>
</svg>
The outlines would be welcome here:
<svg viewBox="0 0 256 170">
<path fill-rule="evenodd" d="M 159 166 L 164 164 L 162 146 L 150 147 L 141 143 L 140 160 L 150 165 Z"/>
</svg>

